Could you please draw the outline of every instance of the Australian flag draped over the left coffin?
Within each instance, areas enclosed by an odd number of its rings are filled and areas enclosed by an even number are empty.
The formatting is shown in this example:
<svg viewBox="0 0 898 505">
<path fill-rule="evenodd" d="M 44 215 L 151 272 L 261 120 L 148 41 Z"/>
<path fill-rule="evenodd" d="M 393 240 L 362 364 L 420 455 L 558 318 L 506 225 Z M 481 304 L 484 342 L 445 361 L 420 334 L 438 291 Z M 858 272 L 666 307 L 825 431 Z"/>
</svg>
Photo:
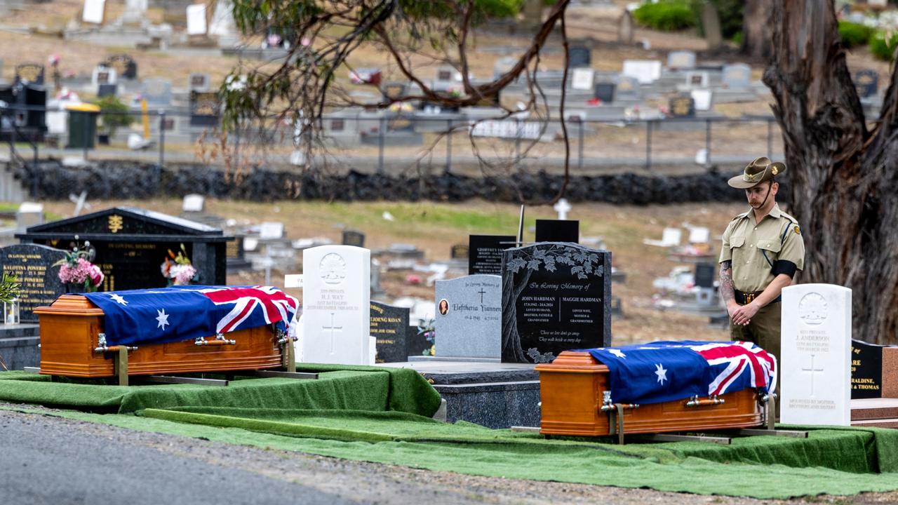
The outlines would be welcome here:
<svg viewBox="0 0 898 505">
<path fill-rule="evenodd" d="M 99 306 L 109 345 L 189 341 L 275 324 L 286 333 L 299 302 L 270 286 L 171 286 L 84 293 Z"/>
</svg>

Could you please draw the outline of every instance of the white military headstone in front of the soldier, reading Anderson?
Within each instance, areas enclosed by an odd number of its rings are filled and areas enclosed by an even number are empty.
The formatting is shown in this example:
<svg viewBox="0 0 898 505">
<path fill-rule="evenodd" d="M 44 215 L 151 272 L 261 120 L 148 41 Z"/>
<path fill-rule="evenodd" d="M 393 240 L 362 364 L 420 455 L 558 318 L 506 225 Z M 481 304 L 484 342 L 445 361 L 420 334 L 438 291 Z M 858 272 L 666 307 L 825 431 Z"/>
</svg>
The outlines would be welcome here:
<svg viewBox="0 0 898 505">
<path fill-rule="evenodd" d="M 799 284 L 782 291 L 780 420 L 851 424 L 851 290 Z"/>
</svg>

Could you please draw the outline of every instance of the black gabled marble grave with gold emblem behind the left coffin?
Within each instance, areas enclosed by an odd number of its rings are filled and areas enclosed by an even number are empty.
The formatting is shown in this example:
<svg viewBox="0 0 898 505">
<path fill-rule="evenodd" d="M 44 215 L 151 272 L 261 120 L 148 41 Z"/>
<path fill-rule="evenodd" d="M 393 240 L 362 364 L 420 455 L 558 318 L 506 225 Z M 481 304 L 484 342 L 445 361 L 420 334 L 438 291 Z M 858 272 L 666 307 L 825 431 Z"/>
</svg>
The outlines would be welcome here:
<svg viewBox="0 0 898 505">
<path fill-rule="evenodd" d="M 163 288 L 160 266 L 169 250 L 180 251 L 184 244 L 199 274 L 198 282 L 224 285 L 227 282 L 225 244 L 233 240 L 221 230 L 180 217 L 143 208 L 107 208 L 92 214 L 71 217 L 15 235 L 22 243 L 45 244 L 70 249 L 90 241 L 96 248 L 93 263 L 103 275 L 102 291 Z"/>
</svg>

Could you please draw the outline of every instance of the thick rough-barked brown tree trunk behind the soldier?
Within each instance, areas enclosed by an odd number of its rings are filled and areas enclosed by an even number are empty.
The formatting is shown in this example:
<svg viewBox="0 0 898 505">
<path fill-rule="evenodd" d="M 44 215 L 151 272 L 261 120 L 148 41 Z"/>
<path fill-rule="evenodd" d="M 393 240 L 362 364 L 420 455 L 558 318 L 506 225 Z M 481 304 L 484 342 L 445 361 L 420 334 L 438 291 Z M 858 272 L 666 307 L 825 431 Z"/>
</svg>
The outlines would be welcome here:
<svg viewBox="0 0 898 505">
<path fill-rule="evenodd" d="M 896 74 L 877 126 L 867 130 L 832 0 L 778 1 L 770 13 L 764 83 L 776 101 L 791 209 L 805 237 L 800 280 L 851 288 L 853 337 L 898 343 Z"/>
</svg>

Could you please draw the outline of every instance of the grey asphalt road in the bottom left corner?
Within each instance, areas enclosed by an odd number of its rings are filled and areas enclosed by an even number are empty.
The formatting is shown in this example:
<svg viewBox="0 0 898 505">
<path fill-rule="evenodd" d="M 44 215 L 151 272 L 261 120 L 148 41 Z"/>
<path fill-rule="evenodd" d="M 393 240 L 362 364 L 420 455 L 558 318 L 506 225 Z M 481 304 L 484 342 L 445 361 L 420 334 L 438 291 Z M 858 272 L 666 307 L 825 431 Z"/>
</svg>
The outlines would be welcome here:
<svg viewBox="0 0 898 505">
<path fill-rule="evenodd" d="M 45 420 L 0 414 L 0 496 L 5 503 L 356 503 Z"/>
</svg>

